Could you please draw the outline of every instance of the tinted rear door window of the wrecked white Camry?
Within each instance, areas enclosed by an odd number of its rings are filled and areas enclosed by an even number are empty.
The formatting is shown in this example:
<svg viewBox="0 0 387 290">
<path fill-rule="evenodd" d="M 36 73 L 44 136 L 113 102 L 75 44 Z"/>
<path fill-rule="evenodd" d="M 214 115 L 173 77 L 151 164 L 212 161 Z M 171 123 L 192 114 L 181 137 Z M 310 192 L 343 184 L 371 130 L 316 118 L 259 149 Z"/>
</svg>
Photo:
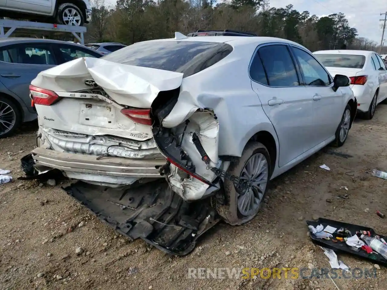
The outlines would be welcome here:
<svg viewBox="0 0 387 290">
<path fill-rule="evenodd" d="M 252 76 L 253 80 L 271 87 L 300 85 L 295 65 L 285 45 L 273 44 L 262 46 L 255 55 L 255 58 L 257 57 L 262 61 L 267 83 L 265 83 L 262 72 L 259 72 L 259 61 L 255 59 L 252 65 L 255 66 L 257 71 L 252 72 L 250 68 L 250 76 Z"/>
</svg>

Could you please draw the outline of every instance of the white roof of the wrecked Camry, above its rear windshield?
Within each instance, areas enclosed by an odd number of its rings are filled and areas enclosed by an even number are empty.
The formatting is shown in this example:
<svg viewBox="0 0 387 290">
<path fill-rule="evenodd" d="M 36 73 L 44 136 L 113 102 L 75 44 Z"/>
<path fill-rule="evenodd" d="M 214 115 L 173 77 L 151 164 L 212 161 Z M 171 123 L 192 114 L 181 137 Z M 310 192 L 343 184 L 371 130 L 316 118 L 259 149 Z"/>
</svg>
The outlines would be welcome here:
<svg viewBox="0 0 387 290">
<path fill-rule="evenodd" d="M 276 37 L 265 37 L 265 36 L 200 36 L 200 37 L 187 37 L 182 39 L 175 39 L 175 38 L 166 38 L 166 39 L 153 39 L 148 40 L 144 42 L 157 42 L 157 41 L 203 41 L 203 42 L 217 42 L 217 43 L 229 43 L 232 44 L 232 46 L 239 46 L 239 45 L 245 45 L 245 44 L 264 44 L 264 43 L 287 43 L 287 44 L 293 44 L 296 46 L 301 46 L 298 43 L 295 43 L 293 41 L 283 39 L 283 38 L 276 38 Z"/>
</svg>

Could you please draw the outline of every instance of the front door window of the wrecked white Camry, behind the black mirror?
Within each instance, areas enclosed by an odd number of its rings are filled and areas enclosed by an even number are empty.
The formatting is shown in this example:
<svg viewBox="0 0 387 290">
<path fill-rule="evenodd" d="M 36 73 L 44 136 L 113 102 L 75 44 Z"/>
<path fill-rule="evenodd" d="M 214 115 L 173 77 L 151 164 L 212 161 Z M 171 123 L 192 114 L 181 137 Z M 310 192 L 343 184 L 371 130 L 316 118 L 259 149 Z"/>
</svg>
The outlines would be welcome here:
<svg viewBox="0 0 387 290">
<path fill-rule="evenodd" d="M 306 85 L 326 86 L 330 84 L 328 73 L 312 55 L 296 47 L 293 47 L 293 52 L 300 63 Z"/>
</svg>

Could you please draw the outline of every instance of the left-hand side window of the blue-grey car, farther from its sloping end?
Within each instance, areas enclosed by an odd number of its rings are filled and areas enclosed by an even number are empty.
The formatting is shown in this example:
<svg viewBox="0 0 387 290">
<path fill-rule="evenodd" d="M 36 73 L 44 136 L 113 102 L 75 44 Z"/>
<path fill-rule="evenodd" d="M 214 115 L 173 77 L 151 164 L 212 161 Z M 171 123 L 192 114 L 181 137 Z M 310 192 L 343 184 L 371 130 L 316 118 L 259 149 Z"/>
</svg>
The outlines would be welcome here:
<svg viewBox="0 0 387 290">
<path fill-rule="evenodd" d="M 25 65 L 55 65 L 52 49 L 45 44 L 23 44 L 2 49 L 0 61 Z"/>
</svg>

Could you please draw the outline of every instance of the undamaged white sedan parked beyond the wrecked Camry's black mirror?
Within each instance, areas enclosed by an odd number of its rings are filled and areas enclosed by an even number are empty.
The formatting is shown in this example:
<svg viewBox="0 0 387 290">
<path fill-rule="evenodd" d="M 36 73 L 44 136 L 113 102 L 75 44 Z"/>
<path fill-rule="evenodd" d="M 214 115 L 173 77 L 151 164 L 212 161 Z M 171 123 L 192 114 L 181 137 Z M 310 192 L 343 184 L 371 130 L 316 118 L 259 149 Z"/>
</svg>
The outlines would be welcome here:
<svg viewBox="0 0 387 290">
<path fill-rule="evenodd" d="M 387 98 L 387 68 L 380 56 L 363 50 L 324 50 L 313 54 L 332 76 L 339 73 L 351 78 L 358 110 L 372 119 L 377 104 Z"/>
</svg>

